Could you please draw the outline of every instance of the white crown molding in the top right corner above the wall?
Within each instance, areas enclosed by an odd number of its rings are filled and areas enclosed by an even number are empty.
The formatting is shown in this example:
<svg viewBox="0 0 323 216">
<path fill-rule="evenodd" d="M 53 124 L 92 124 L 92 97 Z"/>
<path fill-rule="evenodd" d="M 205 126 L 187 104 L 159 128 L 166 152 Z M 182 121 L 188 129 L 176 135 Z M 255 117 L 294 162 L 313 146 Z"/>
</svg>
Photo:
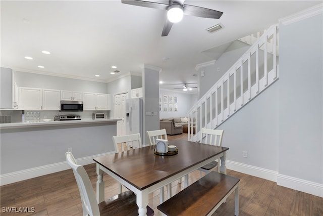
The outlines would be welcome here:
<svg viewBox="0 0 323 216">
<path fill-rule="evenodd" d="M 299 11 L 295 14 L 290 15 L 290 16 L 283 17 L 283 18 L 279 19 L 278 21 L 283 25 L 289 25 L 289 24 L 316 16 L 316 15 L 322 14 L 322 13 L 323 13 L 323 4 L 321 3 L 321 4 L 315 5 L 313 7 L 310 7 L 308 9 Z"/>
</svg>

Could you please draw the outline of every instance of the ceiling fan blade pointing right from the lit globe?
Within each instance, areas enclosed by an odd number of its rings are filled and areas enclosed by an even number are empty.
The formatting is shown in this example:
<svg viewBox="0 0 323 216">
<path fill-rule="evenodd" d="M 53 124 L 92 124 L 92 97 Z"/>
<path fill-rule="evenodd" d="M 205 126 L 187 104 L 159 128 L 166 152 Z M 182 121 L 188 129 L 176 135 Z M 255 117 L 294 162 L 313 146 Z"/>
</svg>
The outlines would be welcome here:
<svg viewBox="0 0 323 216">
<path fill-rule="evenodd" d="M 184 15 L 220 19 L 223 12 L 192 5 L 183 5 Z"/>
</svg>

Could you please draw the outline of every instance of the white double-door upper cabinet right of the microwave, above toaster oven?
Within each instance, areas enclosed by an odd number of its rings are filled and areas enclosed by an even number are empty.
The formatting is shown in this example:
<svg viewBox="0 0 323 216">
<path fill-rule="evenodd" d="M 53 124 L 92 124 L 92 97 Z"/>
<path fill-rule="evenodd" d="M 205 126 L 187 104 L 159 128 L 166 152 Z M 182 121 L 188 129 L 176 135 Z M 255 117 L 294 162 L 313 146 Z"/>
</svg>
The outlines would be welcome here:
<svg viewBox="0 0 323 216">
<path fill-rule="evenodd" d="M 84 110 L 111 110 L 111 95 L 100 93 L 84 93 Z"/>
</svg>

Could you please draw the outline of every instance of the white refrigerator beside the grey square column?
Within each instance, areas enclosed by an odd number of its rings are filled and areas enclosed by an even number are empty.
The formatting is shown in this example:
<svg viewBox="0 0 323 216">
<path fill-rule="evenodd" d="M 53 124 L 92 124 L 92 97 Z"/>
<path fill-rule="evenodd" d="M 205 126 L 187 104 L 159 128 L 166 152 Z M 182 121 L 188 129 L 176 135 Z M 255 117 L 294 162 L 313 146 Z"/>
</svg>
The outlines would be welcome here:
<svg viewBox="0 0 323 216">
<path fill-rule="evenodd" d="M 142 143 L 142 98 L 132 98 L 126 100 L 126 133 L 137 134 L 140 133 Z M 133 148 L 139 148 L 138 143 L 134 143 Z"/>
</svg>

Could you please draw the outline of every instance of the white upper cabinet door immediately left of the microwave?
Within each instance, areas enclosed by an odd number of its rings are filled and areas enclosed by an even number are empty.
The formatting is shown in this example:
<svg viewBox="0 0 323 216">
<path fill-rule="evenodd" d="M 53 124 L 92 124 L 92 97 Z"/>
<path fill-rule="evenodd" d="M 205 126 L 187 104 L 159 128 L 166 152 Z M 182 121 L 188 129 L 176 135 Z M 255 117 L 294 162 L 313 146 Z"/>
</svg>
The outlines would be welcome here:
<svg viewBox="0 0 323 216">
<path fill-rule="evenodd" d="M 43 89 L 42 90 L 42 109 L 43 110 L 60 110 L 61 97 L 60 90 Z"/>
</svg>

